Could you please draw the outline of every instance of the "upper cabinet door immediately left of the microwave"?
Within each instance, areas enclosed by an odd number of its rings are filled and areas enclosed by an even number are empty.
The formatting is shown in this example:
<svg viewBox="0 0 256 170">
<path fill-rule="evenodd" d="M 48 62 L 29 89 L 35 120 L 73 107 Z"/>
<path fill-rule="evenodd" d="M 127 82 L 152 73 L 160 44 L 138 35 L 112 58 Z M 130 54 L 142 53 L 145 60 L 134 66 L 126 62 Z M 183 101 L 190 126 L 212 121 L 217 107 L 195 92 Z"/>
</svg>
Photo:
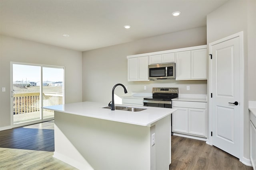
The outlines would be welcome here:
<svg viewBox="0 0 256 170">
<path fill-rule="evenodd" d="M 148 56 L 138 57 L 138 80 L 148 80 Z"/>
</svg>

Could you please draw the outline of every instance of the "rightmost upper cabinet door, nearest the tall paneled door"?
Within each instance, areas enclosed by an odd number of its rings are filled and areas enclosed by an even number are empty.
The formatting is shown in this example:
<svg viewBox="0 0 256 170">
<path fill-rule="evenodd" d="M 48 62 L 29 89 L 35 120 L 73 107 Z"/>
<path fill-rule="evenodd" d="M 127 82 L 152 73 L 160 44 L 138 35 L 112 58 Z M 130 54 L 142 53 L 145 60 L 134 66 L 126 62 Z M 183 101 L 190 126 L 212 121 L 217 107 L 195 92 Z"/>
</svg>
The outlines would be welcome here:
<svg viewBox="0 0 256 170">
<path fill-rule="evenodd" d="M 191 51 L 191 79 L 207 79 L 207 50 Z"/>
</svg>

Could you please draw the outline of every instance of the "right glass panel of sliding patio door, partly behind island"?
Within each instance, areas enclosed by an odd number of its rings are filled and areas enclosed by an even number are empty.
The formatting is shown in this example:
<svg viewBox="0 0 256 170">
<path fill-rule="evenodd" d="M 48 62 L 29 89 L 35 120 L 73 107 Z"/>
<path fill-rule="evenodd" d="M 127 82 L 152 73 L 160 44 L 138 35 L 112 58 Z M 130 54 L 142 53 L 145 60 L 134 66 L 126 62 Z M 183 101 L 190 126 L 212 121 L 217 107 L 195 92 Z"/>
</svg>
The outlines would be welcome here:
<svg viewBox="0 0 256 170">
<path fill-rule="evenodd" d="M 63 104 L 64 68 L 42 67 L 43 106 Z M 54 111 L 43 109 L 43 119 L 54 118 Z"/>
</svg>

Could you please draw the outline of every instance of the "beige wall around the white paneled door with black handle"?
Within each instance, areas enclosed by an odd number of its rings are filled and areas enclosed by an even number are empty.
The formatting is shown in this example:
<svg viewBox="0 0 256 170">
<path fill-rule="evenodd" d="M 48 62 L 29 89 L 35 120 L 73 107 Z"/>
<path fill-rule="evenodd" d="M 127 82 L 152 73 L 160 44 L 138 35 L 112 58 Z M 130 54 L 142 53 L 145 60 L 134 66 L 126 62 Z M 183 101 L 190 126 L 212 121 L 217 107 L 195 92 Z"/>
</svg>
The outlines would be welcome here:
<svg viewBox="0 0 256 170">
<path fill-rule="evenodd" d="M 248 99 L 256 100 L 255 9 L 255 0 L 230 0 L 207 15 L 207 44 L 244 31 L 244 158 L 246 159 L 250 159 Z"/>
</svg>

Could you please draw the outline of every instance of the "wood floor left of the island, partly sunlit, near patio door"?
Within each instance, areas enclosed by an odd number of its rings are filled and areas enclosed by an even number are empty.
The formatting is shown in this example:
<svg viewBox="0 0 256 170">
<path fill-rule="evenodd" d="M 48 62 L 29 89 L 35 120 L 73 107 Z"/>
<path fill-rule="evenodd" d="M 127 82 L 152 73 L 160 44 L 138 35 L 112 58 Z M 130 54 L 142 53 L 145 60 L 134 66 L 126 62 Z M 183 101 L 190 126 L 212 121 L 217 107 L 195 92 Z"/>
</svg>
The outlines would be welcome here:
<svg viewBox="0 0 256 170">
<path fill-rule="evenodd" d="M 56 158 L 54 121 L 0 131 L 0 170 L 77 170 Z"/>
</svg>

